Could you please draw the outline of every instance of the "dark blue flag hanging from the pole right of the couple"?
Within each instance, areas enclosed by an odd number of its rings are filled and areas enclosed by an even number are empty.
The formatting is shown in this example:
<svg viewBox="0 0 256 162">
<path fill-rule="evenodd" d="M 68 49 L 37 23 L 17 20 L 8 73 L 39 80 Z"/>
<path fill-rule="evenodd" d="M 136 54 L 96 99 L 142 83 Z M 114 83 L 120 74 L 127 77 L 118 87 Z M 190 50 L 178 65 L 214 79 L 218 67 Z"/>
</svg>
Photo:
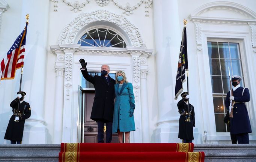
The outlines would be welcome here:
<svg viewBox="0 0 256 162">
<path fill-rule="evenodd" d="M 187 32 L 186 27 L 184 27 L 182 32 L 181 49 L 179 51 L 178 71 L 176 75 L 175 100 L 178 99 L 179 94 L 183 91 L 182 84 L 186 81 L 185 71 L 188 70 L 187 52 Z"/>
</svg>

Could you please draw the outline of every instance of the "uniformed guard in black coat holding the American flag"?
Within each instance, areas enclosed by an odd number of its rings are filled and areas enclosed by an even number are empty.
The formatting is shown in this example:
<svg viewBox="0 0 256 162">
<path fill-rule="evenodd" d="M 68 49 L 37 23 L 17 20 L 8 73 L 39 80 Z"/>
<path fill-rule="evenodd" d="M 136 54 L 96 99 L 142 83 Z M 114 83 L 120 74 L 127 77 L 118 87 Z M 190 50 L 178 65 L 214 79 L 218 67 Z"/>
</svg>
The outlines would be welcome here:
<svg viewBox="0 0 256 162">
<path fill-rule="evenodd" d="M 25 120 L 30 117 L 30 105 L 24 101 L 25 92 L 17 92 L 18 97 L 11 102 L 12 116 L 9 120 L 5 139 L 11 140 L 11 144 L 21 144 Z"/>
</svg>

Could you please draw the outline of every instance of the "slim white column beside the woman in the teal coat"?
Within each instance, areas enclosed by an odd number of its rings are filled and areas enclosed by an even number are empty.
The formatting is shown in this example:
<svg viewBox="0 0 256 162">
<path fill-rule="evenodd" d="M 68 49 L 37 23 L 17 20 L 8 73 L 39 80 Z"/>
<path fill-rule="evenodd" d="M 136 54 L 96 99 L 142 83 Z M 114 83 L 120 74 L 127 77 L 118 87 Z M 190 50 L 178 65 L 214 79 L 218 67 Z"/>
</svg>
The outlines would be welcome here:
<svg viewBox="0 0 256 162">
<path fill-rule="evenodd" d="M 148 109 L 148 88 L 147 88 L 148 70 L 140 71 L 140 94 L 141 94 L 141 110 L 142 110 L 142 142 L 149 143 L 149 109 Z"/>
</svg>

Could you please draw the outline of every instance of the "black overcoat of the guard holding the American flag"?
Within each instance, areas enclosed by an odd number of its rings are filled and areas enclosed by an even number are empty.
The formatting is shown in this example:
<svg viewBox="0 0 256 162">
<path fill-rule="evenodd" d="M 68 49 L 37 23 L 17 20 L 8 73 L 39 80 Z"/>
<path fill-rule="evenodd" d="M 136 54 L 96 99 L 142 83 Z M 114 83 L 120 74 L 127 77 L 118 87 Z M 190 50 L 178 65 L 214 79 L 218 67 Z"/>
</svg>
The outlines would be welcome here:
<svg viewBox="0 0 256 162">
<path fill-rule="evenodd" d="M 12 107 L 13 113 L 17 113 L 18 101 L 19 99 L 16 98 L 10 104 L 10 107 Z M 24 109 L 26 104 L 27 104 L 26 109 Z M 19 113 L 23 115 L 19 116 L 20 121 L 18 122 L 14 121 L 15 115 L 11 116 L 5 132 L 5 139 L 12 140 L 12 141 L 22 141 L 25 120 L 29 118 L 31 115 L 30 105 L 28 102 L 23 101 L 22 103 L 20 103 Z"/>
</svg>

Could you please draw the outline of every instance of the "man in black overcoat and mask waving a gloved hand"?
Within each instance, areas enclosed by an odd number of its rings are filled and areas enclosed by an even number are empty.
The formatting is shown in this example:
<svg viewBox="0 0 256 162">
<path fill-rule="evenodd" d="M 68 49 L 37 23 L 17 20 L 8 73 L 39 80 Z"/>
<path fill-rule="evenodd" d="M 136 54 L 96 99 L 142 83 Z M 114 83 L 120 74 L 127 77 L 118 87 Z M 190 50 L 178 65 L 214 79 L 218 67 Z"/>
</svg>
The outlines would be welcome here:
<svg viewBox="0 0 256 162">
<path fill-rule="evenodd" d="M 101 76 L 88 74 L 84 59 L 80 59 L 83 77 L 93 84 L 95 97 L 92 105 L 91 119 L 98 124 L 98 143 L 104 143 L 104 124 L 106 123 L 106 143 L 112 140 L 112 121 L 114 111 L 114 84 L 116 81 L 108 73 L 108 65 L 101 66 Z"/>
</svg>

